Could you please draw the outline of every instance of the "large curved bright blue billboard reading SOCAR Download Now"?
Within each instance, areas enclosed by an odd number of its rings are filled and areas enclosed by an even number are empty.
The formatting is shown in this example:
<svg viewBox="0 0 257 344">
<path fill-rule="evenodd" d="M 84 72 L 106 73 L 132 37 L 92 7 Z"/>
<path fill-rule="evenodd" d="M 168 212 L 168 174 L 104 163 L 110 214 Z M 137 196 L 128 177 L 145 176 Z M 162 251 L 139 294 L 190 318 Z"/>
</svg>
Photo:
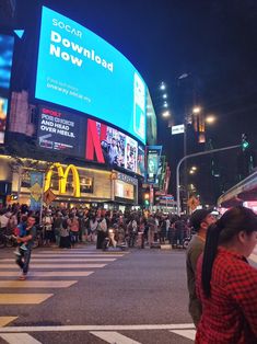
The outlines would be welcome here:
<svg viewBox="0 0 257 344">
<path fill-rule="evenodd" d="M 130 61 L 43 7 L 35 98 L 104 119 L 145 144 L 147 85 Z"/>
</svg>

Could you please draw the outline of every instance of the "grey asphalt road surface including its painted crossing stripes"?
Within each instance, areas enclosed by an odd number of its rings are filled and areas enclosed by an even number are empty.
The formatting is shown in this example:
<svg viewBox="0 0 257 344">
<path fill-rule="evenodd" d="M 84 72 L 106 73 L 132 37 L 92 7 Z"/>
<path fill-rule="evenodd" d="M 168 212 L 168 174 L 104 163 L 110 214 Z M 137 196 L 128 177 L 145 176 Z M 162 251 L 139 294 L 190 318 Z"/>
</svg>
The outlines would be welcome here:
<svg viewBox="0 0 257 344">
<path fill-rule="evenodd" d="M 19 275 L 2 249 L 0 343 L 194 343 L 185 251 L 42 248 L 27 280 Z"/>
</svg>

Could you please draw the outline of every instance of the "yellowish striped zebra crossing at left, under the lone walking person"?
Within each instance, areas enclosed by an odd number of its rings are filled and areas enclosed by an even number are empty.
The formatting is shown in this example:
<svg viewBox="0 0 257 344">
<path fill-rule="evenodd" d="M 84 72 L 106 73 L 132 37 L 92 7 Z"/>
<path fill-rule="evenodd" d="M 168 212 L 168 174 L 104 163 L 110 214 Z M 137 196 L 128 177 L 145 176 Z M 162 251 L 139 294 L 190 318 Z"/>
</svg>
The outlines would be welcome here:
<svg viewBox="0 0 257 344">
<path fill-rule="evenodd" d="M 19 317 L 19 314 L 5 317 L 1 313 L 1 309 L 3 309 L 1 306 L 4 306 L 5 310 L 9 305 L 25 306 L 46 302 L 55 296 L 58 289 L 74 286 L 79 277 L 89 277 L 96 270 L 104 268 L 122 256 L 124 253 L 98 253 L 86 249 L 73 249 L 69 252 L 52 249 L 34 250 L 26 280 L 17 280 L 20 270 L 15 264 L 15 256 L 10 257 L 8 254 L 7 257 L 0 259 L 0 328 L 8 325 Z M 36 293 L 37 289 L 46 290 L 46 293 Z M 2 334 L 0 337 L 4 339 Z M 14 343 L 15 336 L 7 335 L 4 341 Z M 33 340 L 30 342 L 28 336 L 25 335 L 24 343 L 39 342 L 33 342 Z"/>
</svg>

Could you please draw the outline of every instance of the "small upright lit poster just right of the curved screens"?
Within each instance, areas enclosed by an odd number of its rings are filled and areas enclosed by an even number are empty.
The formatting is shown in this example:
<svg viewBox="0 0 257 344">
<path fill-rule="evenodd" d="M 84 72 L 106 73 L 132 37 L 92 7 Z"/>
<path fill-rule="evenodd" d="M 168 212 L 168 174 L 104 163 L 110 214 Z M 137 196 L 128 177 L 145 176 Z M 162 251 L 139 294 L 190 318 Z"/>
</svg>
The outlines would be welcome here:
<svg viewBox="0 0 257 344">
<path fill-rule="evenodd" d="M 147 146 L 147 184 L 157 183 L 162 146 Z"/>
</svg>

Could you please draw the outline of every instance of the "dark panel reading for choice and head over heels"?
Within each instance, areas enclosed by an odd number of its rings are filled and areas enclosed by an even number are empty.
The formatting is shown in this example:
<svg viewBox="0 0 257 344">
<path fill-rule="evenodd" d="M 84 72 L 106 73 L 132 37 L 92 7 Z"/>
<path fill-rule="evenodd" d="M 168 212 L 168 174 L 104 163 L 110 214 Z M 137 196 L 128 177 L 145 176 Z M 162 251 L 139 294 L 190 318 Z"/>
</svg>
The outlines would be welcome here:
<svg viewBox="0 0 257 344">
<path fill-rule="evenodd" d="M 40 148 L 84 157 L 86 118 L 45 106 L 39 107 L 37 145 Z"/>
</svg>

